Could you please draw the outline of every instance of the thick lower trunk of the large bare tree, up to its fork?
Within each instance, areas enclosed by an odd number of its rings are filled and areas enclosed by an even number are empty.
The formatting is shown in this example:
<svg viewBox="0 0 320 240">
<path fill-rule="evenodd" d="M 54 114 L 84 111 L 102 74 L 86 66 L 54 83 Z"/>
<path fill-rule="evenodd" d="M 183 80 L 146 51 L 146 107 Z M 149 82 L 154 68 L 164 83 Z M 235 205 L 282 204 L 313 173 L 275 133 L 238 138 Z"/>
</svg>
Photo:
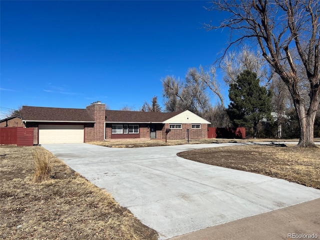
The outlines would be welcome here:
<svg viewBox="0 0 320 240">
<path fill-rule="evenodd" d="M 316 147 L 313 139 L 313 126 L 317 105 L 310 104 L 307 113 L 305 112 L 304 104 L 298 104 L 295 102 L 294 105 L 300 123 L 300 139 L 297 146 Z"/>
</svg>

